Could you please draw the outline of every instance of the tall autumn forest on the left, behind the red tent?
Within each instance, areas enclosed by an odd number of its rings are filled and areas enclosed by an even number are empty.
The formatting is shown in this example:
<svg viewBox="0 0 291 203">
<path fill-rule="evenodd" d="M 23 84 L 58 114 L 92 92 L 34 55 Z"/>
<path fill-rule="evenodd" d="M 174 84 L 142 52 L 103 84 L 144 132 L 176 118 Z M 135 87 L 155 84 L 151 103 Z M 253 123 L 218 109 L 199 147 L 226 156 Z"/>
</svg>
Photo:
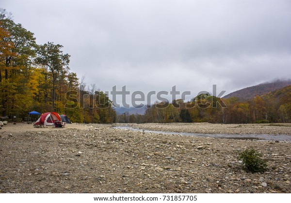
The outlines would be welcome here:
<svg viewBox="0 0 291 203">
<path fill-rule="evenodd" d="M 0 9 L 0 116 L 20 121 L 30 111 L 55 111 L 73 122 L 115 122 L 108 96 L 70 72 L 63 46 L 36 44 L 34 34 L 11 16 Z"/>
</svg>

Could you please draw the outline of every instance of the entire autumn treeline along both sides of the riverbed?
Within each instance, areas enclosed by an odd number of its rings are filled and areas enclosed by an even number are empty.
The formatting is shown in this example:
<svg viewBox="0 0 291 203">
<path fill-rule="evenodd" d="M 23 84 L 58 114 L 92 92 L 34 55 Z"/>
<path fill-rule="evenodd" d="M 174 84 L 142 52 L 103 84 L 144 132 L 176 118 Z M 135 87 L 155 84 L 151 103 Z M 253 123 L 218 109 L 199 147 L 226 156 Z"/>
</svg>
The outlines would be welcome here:
<svg viewBox="0 0 291 203">
<path fill-rule="evenodd" d="M 156 102 L 145 115 L 116 116 L 108 95 L 70 72 L 70 55 L 62 49 L 37 44 L 31 31 L 0 9 L 0 116 L 20 121 L 30 111 L 55 111 L 79 123 L 291 122 L 291 86 L 243 102 L 203 94 L 188 102 Z"/>
</svg>

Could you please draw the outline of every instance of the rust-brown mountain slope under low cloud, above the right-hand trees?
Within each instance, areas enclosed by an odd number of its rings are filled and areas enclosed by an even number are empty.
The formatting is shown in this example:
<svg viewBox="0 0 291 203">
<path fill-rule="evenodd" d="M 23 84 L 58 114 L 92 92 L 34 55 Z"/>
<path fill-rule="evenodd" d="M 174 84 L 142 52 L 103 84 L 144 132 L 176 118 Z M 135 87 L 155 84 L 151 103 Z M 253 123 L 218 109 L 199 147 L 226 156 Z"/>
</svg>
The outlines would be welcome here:
<svg viewBox="0 0 291 203">
<path fill-rule="evenodd" d="M 273 92 L 275 90 L 281 89 L 283 87 L 287 87 L 291 85 L 291 80 L 277 80 L 275 82 L 270 82 L 270 83 L 262 83 L 256 86 L 252 87 L 246 87 L 240 90 L 237 90 L 235 92 L 232 92 L 223 98 L 227 99 L 230 97 L 237 97 L 240 99 L 240 101 L 246 101 L 249 99 L 254 98 L 255 96 L 259 95 L 264 95 L 269 92 Z"/>
</svg>

